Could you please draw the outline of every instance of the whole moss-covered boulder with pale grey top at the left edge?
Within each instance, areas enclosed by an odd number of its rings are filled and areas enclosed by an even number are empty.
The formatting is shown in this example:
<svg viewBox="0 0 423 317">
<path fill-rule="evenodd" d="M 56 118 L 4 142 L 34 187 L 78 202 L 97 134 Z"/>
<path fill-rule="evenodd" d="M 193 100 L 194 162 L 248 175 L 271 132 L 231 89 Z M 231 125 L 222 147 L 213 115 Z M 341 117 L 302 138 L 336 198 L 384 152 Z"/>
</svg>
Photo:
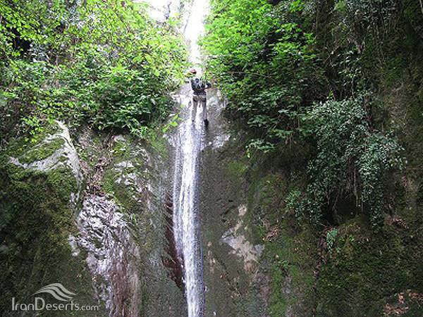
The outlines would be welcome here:
<svg viewBox="0 0 423 317">
<path fill-rule="evenodd" d="M 79 304 L 98 304 L 85 261 L 72 254 L 68 241 L 78 232 L 74 219 L 83 182 L 68 129 L 55 123 L 35 142 L 11 144 L 0 160 L 1 315 L 13 315 L 12 297 L 32 303 L 32 294 L 51 283 L 75 293 Z M 55 301 L 49 294 L 44 299 Z"/>
</svg>

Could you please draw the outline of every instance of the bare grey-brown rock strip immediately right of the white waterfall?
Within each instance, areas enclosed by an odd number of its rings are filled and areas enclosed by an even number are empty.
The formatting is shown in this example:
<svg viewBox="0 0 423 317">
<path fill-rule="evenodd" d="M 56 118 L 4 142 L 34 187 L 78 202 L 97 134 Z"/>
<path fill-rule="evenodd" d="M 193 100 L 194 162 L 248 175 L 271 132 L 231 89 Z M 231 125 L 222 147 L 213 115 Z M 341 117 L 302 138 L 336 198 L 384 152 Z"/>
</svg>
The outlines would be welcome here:
<svg viewBox="0 0 423 317">
<path fill-rule="evenodd" d="M 209 93 L 209 130 L 200 168 L 200 217 L 206 316 L 266 316 L 269 278 L 259 261 L 263 246 L 253 235 L 248 185 L 238 169 L 239 140 L 229 137 L 224 100 Z"/>
</svg>

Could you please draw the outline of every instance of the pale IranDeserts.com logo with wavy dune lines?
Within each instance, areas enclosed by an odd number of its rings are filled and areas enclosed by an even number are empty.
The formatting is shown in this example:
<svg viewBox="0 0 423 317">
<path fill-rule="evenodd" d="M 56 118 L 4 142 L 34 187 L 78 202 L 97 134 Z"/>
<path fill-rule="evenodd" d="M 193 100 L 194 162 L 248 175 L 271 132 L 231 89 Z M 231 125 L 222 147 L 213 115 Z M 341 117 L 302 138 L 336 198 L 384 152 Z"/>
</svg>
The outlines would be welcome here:
<svg viewBox="0 0 423 317">
<path fill-rule="evenodd" d="M 63 303 L 47 303 L 46 299 L 39 297 L 40 294 L 50 294 L 52 297 Z M 98 305 L 80 305 L 73 301 L 73 296 L 76 294 L 66 290 L 66 287 L 60 283 L 53 283 L 44 286 L 37 290 L 32 295 L 39 295 L 34 297 L 34 302 L 29 304 L 19 303 L 15 297 L 12 297 L 12 311 L 98 311 Z"/>
</svg>

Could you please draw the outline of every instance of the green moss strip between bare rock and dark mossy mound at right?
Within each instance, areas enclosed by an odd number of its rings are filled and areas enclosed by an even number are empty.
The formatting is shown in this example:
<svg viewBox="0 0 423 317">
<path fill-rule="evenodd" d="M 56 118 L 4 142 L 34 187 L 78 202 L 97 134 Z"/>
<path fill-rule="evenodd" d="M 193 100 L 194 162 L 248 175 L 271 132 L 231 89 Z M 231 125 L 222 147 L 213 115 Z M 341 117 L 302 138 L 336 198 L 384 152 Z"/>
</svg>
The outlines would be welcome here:
<svg viewBox="0 0 423 317">
<path fill-rule="evenodd" d="M 309 316 L 314 306 L 317 238 L 312 228 L 298 227 L 284 209 L 290 187 L 298 184 L 288 182 L 281 173 L 261 169 L 251 171 L 250 175 L 255 180 L 249 194 L 253 212 L 247 216 L 250 223 L 261 219 L 255 234 L 265 241 L 262 261 L 269 267 L 269 314 L 284 316 L 290 311 L 294 316 Z M 276 235 L 267 240 L 266 235 L 272 231 Z"/>
</svg>

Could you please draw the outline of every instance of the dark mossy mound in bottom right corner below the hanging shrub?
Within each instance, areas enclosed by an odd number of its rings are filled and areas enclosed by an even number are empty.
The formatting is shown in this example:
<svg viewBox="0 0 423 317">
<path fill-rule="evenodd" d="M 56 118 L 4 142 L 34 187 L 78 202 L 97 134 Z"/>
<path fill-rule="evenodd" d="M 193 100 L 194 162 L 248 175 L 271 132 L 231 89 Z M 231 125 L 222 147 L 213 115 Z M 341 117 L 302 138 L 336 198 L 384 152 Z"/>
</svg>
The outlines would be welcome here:
<svg viewBox="0 0 423 317">
<path fill-rule="evenodd" d="M 340 227 L 335 252 L 317 281 L 317 316 L 381 316 L 388 297 L 423 290 L 422 234 L 385 225 L 375 235 L 362 218 Z"/>
</svg>

